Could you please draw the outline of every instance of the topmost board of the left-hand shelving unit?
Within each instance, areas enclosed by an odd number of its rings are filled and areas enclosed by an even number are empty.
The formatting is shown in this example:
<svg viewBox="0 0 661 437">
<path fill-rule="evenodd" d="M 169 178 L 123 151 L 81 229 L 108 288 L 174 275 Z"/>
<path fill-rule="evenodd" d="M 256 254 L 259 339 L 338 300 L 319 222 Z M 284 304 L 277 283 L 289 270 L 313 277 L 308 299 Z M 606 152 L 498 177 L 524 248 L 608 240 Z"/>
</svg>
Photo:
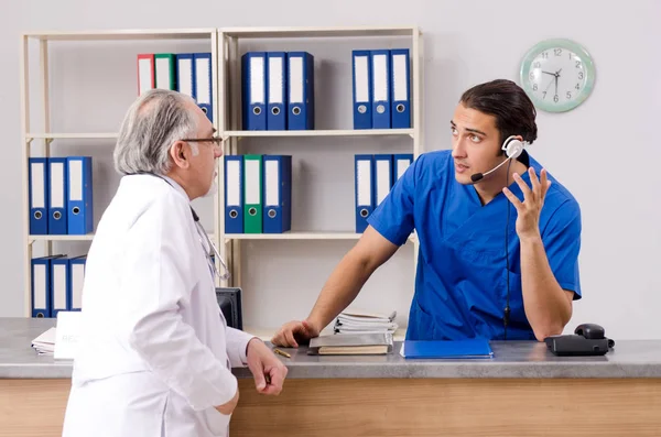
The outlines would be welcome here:
<svg viewBox="0 0 661 437">
<path fill-rule="evenodd" d="M 216 29 L 122 29 L 107 31 L 37 32 L 25 37 L 47 41 L 199 40 L 212 39 Z"/>
</svg>

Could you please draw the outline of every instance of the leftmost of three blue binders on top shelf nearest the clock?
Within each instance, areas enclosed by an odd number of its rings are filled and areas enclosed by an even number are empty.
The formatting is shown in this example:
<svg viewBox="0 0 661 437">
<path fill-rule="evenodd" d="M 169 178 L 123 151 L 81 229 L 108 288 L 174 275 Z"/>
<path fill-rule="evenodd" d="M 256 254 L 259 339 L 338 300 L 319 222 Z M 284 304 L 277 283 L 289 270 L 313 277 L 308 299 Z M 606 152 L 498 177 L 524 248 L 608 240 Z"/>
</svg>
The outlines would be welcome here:
<svg viewBox="0 0 661 437">
<path fill-rule="evenodd" d="M 371 53 L 355 50 L 351 52 L 354 76 L 354 129 L 372 127 Z"/>
</svg>

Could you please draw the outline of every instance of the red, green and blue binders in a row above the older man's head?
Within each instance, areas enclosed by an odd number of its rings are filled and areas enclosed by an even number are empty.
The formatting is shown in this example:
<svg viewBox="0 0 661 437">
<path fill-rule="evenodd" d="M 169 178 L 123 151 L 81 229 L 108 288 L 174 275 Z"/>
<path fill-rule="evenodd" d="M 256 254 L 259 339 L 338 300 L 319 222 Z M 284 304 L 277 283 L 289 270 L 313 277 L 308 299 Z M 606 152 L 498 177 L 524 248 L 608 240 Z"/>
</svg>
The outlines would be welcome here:
<svg viewBox="0 0 661 437">
<path fill-rule="evenodd" d="M 191 96 L 213 122 L 210 53 L 143 53 L 138 55 L 138 95 L 154 88 Z"/>
</svg>

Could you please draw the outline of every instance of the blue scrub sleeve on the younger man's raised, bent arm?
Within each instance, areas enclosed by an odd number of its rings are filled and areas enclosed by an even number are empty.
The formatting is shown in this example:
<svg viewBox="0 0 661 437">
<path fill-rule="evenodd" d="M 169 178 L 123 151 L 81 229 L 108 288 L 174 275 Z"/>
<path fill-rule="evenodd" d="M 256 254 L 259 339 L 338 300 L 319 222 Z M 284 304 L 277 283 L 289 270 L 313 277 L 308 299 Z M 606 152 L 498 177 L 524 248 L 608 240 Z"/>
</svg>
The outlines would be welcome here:
<svg viewBox="0 0 661 437">
<path fill-rule="evenodd" d="M 551 271 L 563 289 L 574 292 L 574 301 L 582 297 L 578 274 L 581 230 L 578 204 L 567 200 L 550 218 L 542 234 Z"/>
</svg>

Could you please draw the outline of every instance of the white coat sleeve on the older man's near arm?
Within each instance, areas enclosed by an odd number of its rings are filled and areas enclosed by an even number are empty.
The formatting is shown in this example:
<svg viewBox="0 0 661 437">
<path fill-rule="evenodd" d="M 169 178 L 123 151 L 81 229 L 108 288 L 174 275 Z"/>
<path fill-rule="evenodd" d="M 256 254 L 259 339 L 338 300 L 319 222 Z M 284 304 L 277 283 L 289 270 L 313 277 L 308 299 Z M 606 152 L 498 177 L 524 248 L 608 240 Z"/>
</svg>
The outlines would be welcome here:
<svg viewBox="0 0 661 437">
<path fill-rule="evenodd" d="M 230 401 L 238 381 L 178 312 L 198 281 L 191 254 L 199 247 L 186 226 L 189 208 L 173 196 L 154 200 L 131 227 L 120 291 L 131 299 L 119 323 L 151 371 L 202 411 Z"/>
</svg>

